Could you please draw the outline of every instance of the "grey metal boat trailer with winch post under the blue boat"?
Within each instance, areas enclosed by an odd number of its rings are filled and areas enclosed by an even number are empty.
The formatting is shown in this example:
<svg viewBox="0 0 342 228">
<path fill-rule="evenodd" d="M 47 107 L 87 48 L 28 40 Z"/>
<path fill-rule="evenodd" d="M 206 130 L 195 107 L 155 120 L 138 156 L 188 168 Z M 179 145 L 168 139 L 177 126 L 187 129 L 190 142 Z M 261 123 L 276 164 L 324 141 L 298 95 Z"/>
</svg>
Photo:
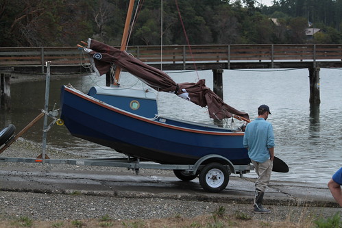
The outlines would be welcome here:
<svg viewBox="0 0 342 228">
<path fill-rule="evenodd" d="M 27 162 L 27 163 L 40 163 L 40 164 L 73 164 L 84 166 L 112 166 L 127 168 L 133 170 L 138 175 L 141 168 L 146 169 L 160 169 L 160 170 L 173 170 L 178 179 L 182 181 L 191 181 L 199 177 L 199 183 L 206 192 L 221 192 L 228 185 L 229 176 L 249 173 L 253 166 L 247 165 L 234 165 L 227 158 L 210 154 L 199 158 L 195 164 L 158 164 L 155 162 L 141 161 L 139 157 L 123 157 L 123 158 L 110 158 L 110 159 L 51 159 L 46 154 L 47 131 L 51 129 L 55 123 L 63 125 L 63 122 L 57 118 L 58 111 L 53 107 L 52 111 L 48 111 L 49 102 L 49 83 L 50 83 L 50 62 L 47 62 L 47 80 L 45 89 L 45 109 L 34 118 L 26 127 L 24 127 L 18 134 L 15 133 L 14 125 L 8 125 L 0 131 L 0 153 L 5 151 L 10 145 L 21 137 L 25 132 L 36 124 L 42 117 L 44 117 L 43 134 L 42 134 L 42 153 L 36 158 L 30 157 L 0 157 L 0 162 Z M 56 106 L 56 105 L 55 105 Z M 53 121 L 47 125 L 47 118 L 50 117 Z"/>
</svg>

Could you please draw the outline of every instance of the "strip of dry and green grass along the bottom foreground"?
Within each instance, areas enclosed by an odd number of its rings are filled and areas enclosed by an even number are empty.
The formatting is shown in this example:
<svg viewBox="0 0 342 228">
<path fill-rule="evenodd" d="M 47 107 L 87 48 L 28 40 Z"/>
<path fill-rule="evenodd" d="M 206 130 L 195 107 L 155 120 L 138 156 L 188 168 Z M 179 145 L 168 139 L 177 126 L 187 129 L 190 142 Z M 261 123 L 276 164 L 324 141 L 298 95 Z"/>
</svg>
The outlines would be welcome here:
<svg viewBox="0 0 342 228">
<path fill-rule="evenodd" d="M 297 214 L 297 216 L 293 216 Z M 151 227 L 173 227 L 173 228 L 223 228 L 223 227 L 342 227 L 342 220 L 340 212 L 334 215 L 323 218 L 311 214 L 308 216 L 308 207 L 302 208 L 302 212 L 289 211 L 284 220 L 267 220 L 252 218 L 248 214 L 240 211 L 226 213 L 225 207 L 220 206 L 212 212 L 196 216 L 194 218 L 184 218 L 179 214 L 171 216 L 170 218 L 152 218 L 152 219 L 132 219 L 120 220 L 112 219 L 107 214 L 101 218 L 91 218 L 84 220 L 56 220 L 56 221 L 42 221 L 32 220 L 29 216 L 14 218 L 13 220 L 2 220 L 0 228 L 3 227 L 36 227 L 36 228 L 86 228 L 86 227 L 124 227 L 124 228 L 151 228 Z M 310 213 L 309 213 L 310 214 Z"/>
</svg>

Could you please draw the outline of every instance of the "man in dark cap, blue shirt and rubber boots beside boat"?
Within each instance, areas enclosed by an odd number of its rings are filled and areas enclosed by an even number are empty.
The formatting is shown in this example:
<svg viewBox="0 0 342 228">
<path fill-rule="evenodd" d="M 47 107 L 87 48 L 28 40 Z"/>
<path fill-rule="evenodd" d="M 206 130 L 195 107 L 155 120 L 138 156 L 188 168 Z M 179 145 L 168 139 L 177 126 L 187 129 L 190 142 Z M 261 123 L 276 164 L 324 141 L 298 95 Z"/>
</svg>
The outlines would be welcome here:
<svg viewBox="0 0 342 228">
<path fill-rule="evenodd" d="M 254 212 L 256 213 L 270 212 L 261 205 L 271 178 L 274 158 L 273 127 L 271 123 L 266 121 L 269 114 L 271 114 L 269 106 L 260 105 L 258 107 L 258 118 L 247 124 L 243 137 L 243 147 L 247 148 L 248 156 L 252 160 L 258 175 L 254 196 Z"/>
</svg>

